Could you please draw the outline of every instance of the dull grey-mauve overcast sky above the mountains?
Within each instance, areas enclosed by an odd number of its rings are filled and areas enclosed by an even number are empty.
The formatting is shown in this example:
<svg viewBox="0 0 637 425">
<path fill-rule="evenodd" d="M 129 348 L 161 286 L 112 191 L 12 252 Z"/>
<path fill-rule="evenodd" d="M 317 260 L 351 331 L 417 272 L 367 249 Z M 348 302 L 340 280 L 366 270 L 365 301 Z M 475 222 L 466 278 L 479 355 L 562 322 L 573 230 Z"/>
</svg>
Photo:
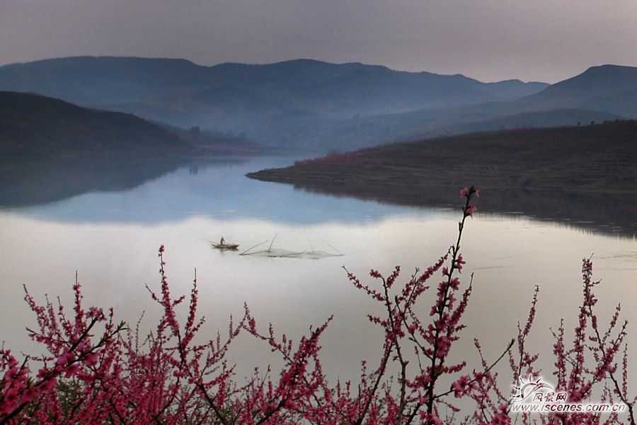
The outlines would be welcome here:
<svg viewBox="0 0 637 425">
<path fill-rule="evenodd" d="M 309 57 L 483 81 L 637 66 L 637 0 L 0 0 L 0 64 Z"/>
</svg>

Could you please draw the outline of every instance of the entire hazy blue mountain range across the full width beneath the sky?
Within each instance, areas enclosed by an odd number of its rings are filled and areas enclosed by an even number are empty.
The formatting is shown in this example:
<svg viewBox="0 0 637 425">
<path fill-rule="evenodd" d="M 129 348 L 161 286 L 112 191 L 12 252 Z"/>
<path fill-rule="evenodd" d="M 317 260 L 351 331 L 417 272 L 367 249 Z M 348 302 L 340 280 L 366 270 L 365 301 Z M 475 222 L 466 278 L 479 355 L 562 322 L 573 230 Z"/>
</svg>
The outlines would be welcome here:
<svg viewBox="0 0 637 425">
<path fill-rule="evenodd" d="M 0 90 L 320 151 L 637 116 L 637 68 L 612 65 L 549 86 L 309 59 L 200 66 L 183 59 L 69 57 L 0 66 Z"/>
</svg>

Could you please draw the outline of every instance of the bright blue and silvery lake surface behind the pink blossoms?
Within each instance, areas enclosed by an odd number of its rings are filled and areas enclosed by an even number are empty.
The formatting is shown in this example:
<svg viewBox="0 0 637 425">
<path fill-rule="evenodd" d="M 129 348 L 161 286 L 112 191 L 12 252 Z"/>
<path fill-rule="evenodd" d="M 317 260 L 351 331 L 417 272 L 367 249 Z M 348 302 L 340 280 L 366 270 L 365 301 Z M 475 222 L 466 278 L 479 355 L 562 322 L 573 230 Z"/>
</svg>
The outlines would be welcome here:
<svg viewBox="0 0 637 425">
<path fill-rule="evenodd" d="M 142 323 L 154 325 L 159 307 L 144 286 L 159 288 L 157 249 L 165 244 L 173 294 L 190 291 L 197 268 L 200 313 L 207 317 L 210 337 L 226 329 L 229 315 L 241 315 L 244 301 L 261 327 L 272 322 L 295 340 L 309 325 L 334 315 L 323 338 L 325 370 L 333 378 L 355 379 L 361 358 L 376 363 L 381 334 L 365 316 L 377 306 L 348 283 L 342 267 L 366 279 L 369 269 L 389 274 L 400 264 L 408 276 L 415 267 L 432 264 L 454 242 L 460 212 L 331 197 L 245 177 L 292 161 L 200 163 L 97 191 L 47 193 L 33 202 L 0 199 L 0 340 L 14 350 L 33 351 L 24 327 L 35 321 L 23 302 L 22 285 L 40 301 L 45 293 L 59 294 L 70 304 L 76 271 L 87 305 L 112 305 L 117 317 L 128 322 L 145 310 Z M 274 248 L 342 256 L 240 256 L 210 247 L 209 241 L 222 235 L 241 244 L 239 251 L 276 236 Z M 549 375 L 549 327 L 557 327 L 564 317 L 572 332 L 582 297 L 581 260 L 590 255 L 595 276 L 602 279 L 597 290 L 600 319 L 606 322 L 621 301 L 624 318 L 637 322 L 636 242 L 634 235 L 577 223 L 478 211 L 464 233 L 463 283 L 473 272 L 474 293 L 466 312 L 466 338 L 454 347 L 454 355 L 466 357 L 470 369 L 478 367 L 473 348 L 478 337 L 490 358 L 498 356 L 515 336 L 517 320 L 525 320 L 539 284 L 539 311 L 529 344 L 541 354 Z M 423 305 L 423 314 L 428 311 L 429 305 Z M 637 330 L 629 327 L 629 334 L 634 339 Z M 230 356 L 239 363 L 240 375 L 251 373 L 254 365 L 277 363 L 267 347 L 247 335 L 235 342 Z M 634 366 L 631 381 L 637 382 Z"/>
</svg>

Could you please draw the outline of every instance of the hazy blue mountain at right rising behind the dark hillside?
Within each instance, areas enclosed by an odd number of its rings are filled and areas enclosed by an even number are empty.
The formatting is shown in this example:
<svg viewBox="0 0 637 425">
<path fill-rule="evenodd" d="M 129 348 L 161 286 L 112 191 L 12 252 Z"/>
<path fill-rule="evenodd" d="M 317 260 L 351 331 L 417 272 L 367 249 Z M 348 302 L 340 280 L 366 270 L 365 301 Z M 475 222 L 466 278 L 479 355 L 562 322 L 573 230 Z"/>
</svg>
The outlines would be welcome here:
<svg viewBox="0 0 637 425">
<path fill-rule="evenodd" d="M 575 126 L 635 117 L 637 67 L 602 65 L 516 100 L 381 115 L 358 125 L 374 125 L 391 134 L 394 140 L 405 141 L 423 136 Z"/>
</svg>

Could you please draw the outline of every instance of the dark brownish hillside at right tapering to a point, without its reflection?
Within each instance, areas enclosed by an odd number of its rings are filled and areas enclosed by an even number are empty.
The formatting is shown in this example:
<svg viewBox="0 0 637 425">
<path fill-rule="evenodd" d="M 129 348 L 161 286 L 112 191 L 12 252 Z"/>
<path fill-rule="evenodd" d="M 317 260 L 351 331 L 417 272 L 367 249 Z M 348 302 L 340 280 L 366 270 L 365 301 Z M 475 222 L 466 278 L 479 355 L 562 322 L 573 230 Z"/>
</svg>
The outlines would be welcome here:
<svg viewBox="0 0 637 425">
<path fill-rule="evenodd" d="M 390 144 L 249 177 L 295 185 L 637 192 L 637 121 L 517 129 Z"/>
</svg>

